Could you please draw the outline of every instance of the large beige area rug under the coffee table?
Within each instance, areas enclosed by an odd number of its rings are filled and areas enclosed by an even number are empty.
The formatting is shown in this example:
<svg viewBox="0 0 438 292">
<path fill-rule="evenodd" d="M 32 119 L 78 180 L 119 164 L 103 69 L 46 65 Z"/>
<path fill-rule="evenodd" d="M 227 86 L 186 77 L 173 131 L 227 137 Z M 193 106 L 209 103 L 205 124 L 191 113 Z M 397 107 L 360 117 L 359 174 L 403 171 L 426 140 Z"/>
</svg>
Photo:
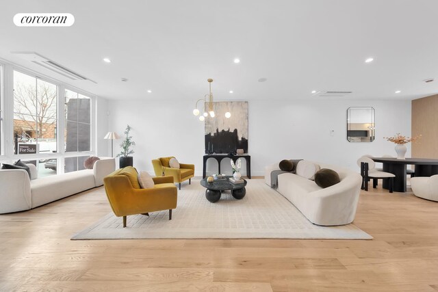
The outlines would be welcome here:
<svg viewBox="0 0 438 292">
<path fill-rule="evenodd" d="M 227 191 L 216 203 L 207 201 L 198 180 L 185 183 L 172 220 L 168 211 L 150 215 L 128 216 L 123 228 L 122 218 L 110 213 L 72 239 L 372 239 L 354 224 L 312 224 L 261 179 L 248 180 L 242 200 Z"/>
</svg>

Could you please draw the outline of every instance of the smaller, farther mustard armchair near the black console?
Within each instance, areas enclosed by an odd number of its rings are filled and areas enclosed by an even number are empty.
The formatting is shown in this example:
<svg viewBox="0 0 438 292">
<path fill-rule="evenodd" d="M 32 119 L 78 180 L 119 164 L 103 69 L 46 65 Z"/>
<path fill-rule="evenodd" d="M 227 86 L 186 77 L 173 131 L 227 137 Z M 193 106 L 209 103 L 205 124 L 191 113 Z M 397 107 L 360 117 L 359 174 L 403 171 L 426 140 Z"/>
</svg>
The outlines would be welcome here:
<svg viewBox="0 0 438 292">
<path fill-rule="evenodd" d="M 164 170 L 164 175 L 173 176 L 175 183 L 179 184 L 179 189 L 181 189 L 181 183 L 183 181 L 189 180 L 189 185 L 191 183 L 191 178 L 194 176 L 194 164 L 179 163 L 179 168 L 170 168 L 169 161 L 171 157 L 160 157 L 159 159 L 153 159 L 152 165 L 156 176 L 161 176 Z"/>
</svg>

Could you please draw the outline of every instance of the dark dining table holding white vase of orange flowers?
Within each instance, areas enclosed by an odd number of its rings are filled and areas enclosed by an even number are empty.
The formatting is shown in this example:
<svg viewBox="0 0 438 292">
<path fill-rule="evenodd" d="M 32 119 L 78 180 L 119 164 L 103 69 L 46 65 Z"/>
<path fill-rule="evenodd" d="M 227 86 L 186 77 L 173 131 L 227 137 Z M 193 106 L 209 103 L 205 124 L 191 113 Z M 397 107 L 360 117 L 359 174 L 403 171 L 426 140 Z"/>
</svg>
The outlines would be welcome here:
<svg viewBox="0 0 438 292">
<path fill-rule="evenodd" d="M 394 178 L 394 191 L 406 191 L 406 170 L 407 165 L 415 165 L 414 176 L 433 176 L 438 174 L 438 159 L 428 158 L 407 158 L 396 159 L 389 157 L 370 157 L 374 162 L 383 163 L 383 171 L 390 172 Z M 389 188 L 389 182 L 383 181 L 383 188 Z"/>
</svg>

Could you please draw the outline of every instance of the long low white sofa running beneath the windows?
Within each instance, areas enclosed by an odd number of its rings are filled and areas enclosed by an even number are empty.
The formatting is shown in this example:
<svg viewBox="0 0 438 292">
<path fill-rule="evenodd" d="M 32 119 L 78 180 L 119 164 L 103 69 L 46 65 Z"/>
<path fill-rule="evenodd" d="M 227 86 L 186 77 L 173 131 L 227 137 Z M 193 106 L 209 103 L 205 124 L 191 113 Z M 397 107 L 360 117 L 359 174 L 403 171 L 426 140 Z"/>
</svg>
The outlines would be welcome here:
<svg viewBox="0 0 438 292">
<path fill-rule="evenodd" d="M 102 158 L 92 170 L 79 170 L 44 178 L 29 179 L 25 170 L 0 170 L 0 214 L 25 211 L 86 189 L 100 187 L 114 172 L 114 158 Z"/>
</svg>

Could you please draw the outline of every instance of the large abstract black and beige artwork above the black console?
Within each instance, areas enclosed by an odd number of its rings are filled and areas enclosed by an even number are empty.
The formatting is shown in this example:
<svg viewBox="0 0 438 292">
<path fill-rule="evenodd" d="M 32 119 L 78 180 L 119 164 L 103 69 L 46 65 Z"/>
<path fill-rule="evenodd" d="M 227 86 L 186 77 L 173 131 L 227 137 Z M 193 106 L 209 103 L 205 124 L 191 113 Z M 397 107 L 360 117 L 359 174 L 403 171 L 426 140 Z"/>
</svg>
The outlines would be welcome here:
<svg viewBox="0 0 438 292">
<path fill-rule="evenodd" d="M 225 117 L 227 111 L 231 113 L 230 118 Z M 237 149 L 248 153 L 248 102 L 214 103 L 214 113 L 214 118 L 205 118 L 205 153 L 229 153 Z"/>
</svg>

